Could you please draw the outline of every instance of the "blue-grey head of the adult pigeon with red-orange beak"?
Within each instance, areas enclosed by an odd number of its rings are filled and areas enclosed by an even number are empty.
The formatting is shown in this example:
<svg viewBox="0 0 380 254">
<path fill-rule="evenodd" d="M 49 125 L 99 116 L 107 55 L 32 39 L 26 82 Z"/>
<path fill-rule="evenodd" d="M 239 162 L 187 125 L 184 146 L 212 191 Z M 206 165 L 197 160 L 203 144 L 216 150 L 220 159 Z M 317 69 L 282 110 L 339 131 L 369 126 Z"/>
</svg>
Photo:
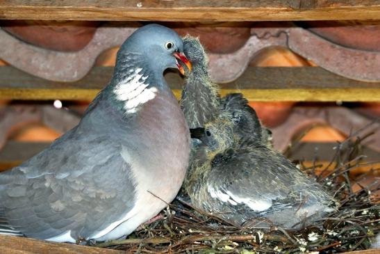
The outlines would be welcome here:
<svg viewBox="0 0 380 254">
<path fill-rule="evenodd" d="M 117 52 L 116 65 L 125 65 L 125 55 L 138 54 L 144 59 L 144 65 L 148 65 L 151 70 L 163 73 L 167 68 L 178 68 L 184 74 L 181 60 L 189 70 L 191 63 L 183 54 L 183 41 L 178 33 L 159 24 L 149 24 L 136 30 L 124 42 Z M 136 59 L 135 61 L 141 61 Z M 140 66 L 143 68 L 144 66 Z"/>
</svg>

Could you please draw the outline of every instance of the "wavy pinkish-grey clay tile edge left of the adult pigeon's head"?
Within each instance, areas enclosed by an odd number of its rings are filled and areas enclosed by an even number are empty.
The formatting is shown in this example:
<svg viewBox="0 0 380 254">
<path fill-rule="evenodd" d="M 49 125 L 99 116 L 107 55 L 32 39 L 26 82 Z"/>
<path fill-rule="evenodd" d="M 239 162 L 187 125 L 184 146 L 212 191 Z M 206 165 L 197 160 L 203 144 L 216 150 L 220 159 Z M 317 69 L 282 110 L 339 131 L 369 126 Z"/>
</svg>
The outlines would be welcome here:
<svg viewBox="0 0 380 254">
<path fill-rule="evenodd" d="M 0 58 L 44 79 L 78 81 L 87 74 L 102 51 L 121 45 L 135 28 L 100 27 L 94 38 L 77 52 L 61 52 L 28 45 L 0 30 Z"/>
</svg>

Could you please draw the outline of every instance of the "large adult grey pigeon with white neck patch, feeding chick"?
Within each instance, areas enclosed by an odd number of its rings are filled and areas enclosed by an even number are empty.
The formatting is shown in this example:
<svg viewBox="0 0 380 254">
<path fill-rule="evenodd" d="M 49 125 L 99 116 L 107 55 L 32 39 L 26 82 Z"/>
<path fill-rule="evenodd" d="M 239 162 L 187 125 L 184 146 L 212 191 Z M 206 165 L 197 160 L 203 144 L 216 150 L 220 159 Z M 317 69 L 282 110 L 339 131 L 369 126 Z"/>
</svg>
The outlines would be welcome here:
<svg viewBox="0 0 380 254">
<path fill-rule="evenodd" d="M 0 174 L 1 232 L 49 241 L 129 235 L 179 191 L 190 134 L 163 72 L 190 66 L 179 35 L 150 24 L 117 53 L 79 125 Z"/>
</svg>

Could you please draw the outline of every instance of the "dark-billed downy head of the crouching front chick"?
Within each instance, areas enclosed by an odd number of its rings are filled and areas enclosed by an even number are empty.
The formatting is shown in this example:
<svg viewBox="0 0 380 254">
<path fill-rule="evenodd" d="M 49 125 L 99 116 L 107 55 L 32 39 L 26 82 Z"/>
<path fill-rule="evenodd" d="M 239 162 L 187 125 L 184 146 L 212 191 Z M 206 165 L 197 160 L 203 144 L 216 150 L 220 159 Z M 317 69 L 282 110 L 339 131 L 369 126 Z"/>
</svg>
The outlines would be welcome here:
<svg viewBox="0 0 380 254">
<path fill-rule="evenodd" d="M 225 118 L 208 122 L 204 128 L 190 129 L 190 134 L 203 143 L 210 156 L 231 148 L 234 142 L 231 122 Z"/>
</svg>

